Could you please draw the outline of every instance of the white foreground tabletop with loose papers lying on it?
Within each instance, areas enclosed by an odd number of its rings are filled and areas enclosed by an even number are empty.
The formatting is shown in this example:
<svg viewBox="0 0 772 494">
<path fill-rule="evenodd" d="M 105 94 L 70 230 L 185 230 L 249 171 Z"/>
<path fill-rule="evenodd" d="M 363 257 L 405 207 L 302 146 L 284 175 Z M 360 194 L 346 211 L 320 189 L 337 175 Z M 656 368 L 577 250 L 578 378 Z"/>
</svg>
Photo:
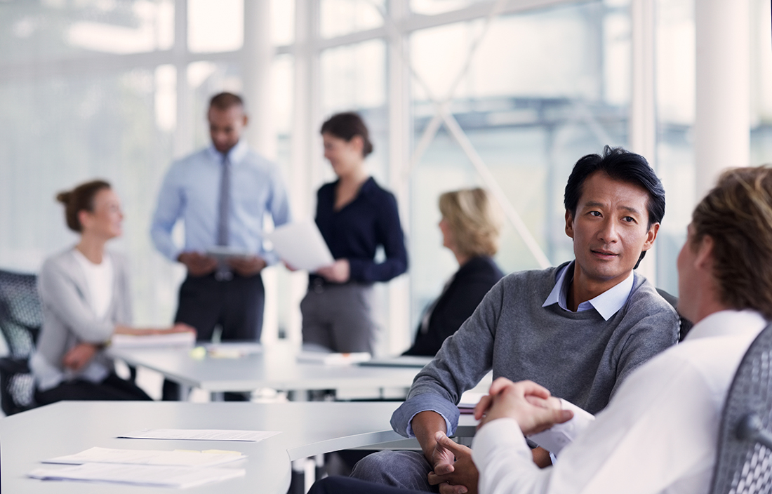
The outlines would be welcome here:
<svg viewBox="0 0 772 494">
<path fill-rule="evenodd" d="M 0 419 L 2 491 L 37 494 L 97 492 L 172 492 L 171 489 L 88 482 L 29 479 L 42 459 L 69 455 L 93 446 L 122 449 L 224 449 L 248 458 L 227 465 L 246 475 L 185 492 L 286 494 L 291 462 L 321 453 L 357 448 L 401 437 L 388 425 L 398 402 L 120 402 L 63 401 Z M 119 439 L 144 428 L 221 428 L 281 431 L 262 442 L 161 441 Z M 462 416 L 459 435 L 473 435 L 473 419 Z M 56 468 L 56 465 L 45 465 Z"/>
</svg>

